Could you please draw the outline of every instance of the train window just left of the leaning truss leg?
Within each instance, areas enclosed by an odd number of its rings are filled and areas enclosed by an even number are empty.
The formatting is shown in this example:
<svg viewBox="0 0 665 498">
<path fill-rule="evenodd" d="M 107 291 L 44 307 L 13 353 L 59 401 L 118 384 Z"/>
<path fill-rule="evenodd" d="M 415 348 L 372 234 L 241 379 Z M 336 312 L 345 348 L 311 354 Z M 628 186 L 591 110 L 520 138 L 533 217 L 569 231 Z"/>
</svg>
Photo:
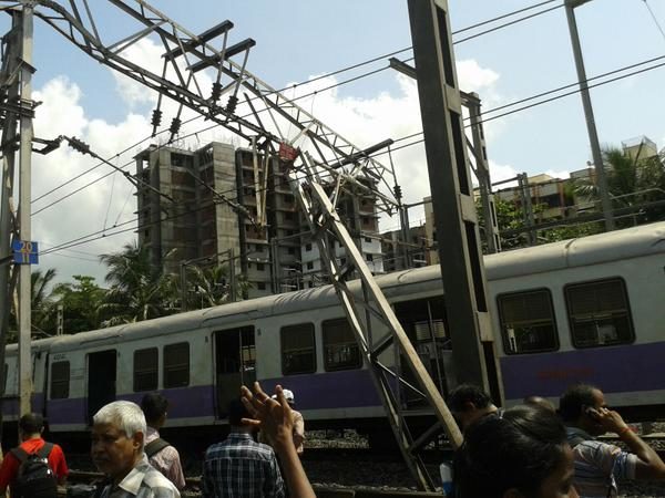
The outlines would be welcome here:
<svg viewBox="0 0 665 498">
<path fill-rule="evenodd" d="M 360 350 L 347 319 L 326 320 L 323 332 L 326 372 L 360 369 Z"/>
</svg>

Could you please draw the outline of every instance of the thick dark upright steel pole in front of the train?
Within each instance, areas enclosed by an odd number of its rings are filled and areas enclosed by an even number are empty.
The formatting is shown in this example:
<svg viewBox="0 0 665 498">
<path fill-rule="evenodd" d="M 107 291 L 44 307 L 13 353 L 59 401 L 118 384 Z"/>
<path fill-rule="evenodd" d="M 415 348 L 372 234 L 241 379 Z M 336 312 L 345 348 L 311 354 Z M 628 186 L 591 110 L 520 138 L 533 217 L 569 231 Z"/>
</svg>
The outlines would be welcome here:
<svg viewBox="0 0 665 498">
<path fill-rule="evenodd" d="M 408 4 L 456 376 L 501 403 L 448 2 Z"/>
</svg>

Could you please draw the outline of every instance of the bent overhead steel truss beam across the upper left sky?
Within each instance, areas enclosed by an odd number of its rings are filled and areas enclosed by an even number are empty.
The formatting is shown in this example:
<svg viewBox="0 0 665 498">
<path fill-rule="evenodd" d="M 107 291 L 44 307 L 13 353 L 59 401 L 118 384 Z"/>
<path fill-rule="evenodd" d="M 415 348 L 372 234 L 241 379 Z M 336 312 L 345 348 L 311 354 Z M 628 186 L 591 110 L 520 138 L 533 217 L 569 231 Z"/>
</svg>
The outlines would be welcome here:
<svg viewBox="0 0 665 498">
<path fill-rule="evenodd" d="M 0 3 L 6 1 L 0 0 Z M 197 35 L 143 0 L 108 0 L 108 3 L 132 18 L 136 25 L 123 27 L 125 32 L 122 35 L 105 40 L 91 9 L 91 6 L 98 7 L 96 2 L 70 0 L 69 8 L 53 0 L 32 3 L 35 4 L 37 17 L 98 62 L 158 92 L 160 102 L 162 96 L 166 96 L 180 103 L 181 110 L 183 106 L 191 108 L 248 142 L 253 137 L 266 138 L 272 143 L 288 143 L 307 151 L 313 155 L 317 173 L 331 180 L 342 177 L 345 184 L 352 178 L 371 178 L 377 186 L 374 189 L 377 209 L 389 215 L 396 212 L 398 203 L 393 194 L 396 181 L 392 170 L 371 157 L 378 148 L 364 149 L 354 145 L 294 100 L 247 71 L 247 58 L 255 42 L 248 39 L 227 45 L 233 28 L 231 21 L 224 21 Z M 223 37 L 221 49 L 213 46 L 218 37 Z M 156 41 L 163 46 L 161 74 L 126 56 L 124 51 L 143 39 Z M 236 55 L 242 62 L 232 59 Z M 202 87 L 198 73 L 203 70 L 213 73 L 211 91 Z M 241 89 L 245 95 L 243 103 L 236 96 Z M 228 102 L 221 105 L 219 97 L 225 93 L 229 94 Z M 246 108 L 247 113 L 239 114 L 237 111 L 242 108 Z M 161 116 L 161 111 L 156 111 Z M 266 116 L 262 120 L 260 114 Z M 289 127 L 297 131 L 290 139 L 283 133 Z M 180 112 L 172 122 L 172 136 L 178 128 Z"/>
</svg>

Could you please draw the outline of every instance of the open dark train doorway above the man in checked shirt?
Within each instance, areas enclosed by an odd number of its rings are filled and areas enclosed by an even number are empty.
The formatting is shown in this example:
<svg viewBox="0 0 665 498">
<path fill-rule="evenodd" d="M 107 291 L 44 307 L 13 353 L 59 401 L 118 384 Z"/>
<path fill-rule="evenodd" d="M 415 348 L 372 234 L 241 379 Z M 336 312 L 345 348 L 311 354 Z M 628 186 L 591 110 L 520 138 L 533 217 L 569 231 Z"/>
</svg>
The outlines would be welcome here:
<svg viewBox="0 0 665 498">
<path fill-rule="evenodd" d="M 226 418 L 226 407 L 238 397 L 241 385 L 256 381 L 254 326 L 221 330 L 214 336 L 217 417 Z"/>
</svg>

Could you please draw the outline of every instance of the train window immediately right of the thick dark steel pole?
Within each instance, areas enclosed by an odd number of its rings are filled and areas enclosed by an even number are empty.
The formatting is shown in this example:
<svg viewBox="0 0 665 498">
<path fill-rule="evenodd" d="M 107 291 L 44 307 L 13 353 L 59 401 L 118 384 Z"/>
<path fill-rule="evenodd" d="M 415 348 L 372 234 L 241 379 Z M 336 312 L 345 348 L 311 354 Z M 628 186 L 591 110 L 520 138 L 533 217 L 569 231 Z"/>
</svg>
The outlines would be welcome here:
<svg viewBox="0 0 665 498">
<path fill-rule="evenodd" d="M 556 320 L 549 289 L 498 295 L 497 304 L 507 354 L 559 349 Z"/>
</svg>

